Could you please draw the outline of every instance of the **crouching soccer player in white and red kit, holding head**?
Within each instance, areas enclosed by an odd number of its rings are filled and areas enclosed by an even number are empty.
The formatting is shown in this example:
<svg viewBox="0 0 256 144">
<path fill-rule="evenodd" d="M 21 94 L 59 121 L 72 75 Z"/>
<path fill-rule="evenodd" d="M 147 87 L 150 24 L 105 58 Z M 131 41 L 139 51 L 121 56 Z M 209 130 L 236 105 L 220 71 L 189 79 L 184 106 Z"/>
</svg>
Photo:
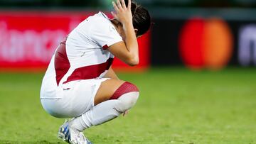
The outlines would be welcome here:
<svg viewBox="0 0 256 144">
<path fill-rule="evenodd" d="M 118 79 L 111 65 L 114 56 L 138 65 L 137 37 L 149 30 L 149 12 L 131 0 L 113 6 L 114 19 L 99 12 L 60 43 L 43 77 L 43 108 L 57 118 L 72 118 L 58 131 L 68 143 L 90 143 L 82 131 L 125 114 L 139 96 L 137 87 Z"/>
</svg>

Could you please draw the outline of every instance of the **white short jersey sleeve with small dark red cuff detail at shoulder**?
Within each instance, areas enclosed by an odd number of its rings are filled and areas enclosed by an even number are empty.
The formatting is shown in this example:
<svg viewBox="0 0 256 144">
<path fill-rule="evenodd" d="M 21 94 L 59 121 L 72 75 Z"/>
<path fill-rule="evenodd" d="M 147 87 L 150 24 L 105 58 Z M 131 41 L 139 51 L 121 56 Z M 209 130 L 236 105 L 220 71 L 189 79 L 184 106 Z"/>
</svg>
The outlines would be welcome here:
<svg viewBox="0 0 256 144">
<path fill-rule="evenodd" d="M 100 45 L 103 50 L 107 50 L 107 48 L 114 43 L 123 41 L 112 23 L 104 18 L 99 18 L 95 21 L 95 24 L 90 29 L 90 37 Z"/>
</svg>

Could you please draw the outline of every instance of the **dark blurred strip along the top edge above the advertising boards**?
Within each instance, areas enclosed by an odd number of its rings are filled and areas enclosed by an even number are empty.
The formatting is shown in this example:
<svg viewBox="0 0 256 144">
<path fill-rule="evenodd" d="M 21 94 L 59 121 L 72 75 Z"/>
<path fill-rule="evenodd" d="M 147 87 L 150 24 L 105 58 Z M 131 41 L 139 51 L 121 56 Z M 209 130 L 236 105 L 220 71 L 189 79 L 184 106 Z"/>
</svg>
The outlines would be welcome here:
<svg viewBox="0 0 256 144">
<path fill-rule="evenodd" d="M 8 7 L 57 7 L 110 9 L 112 0 L 0 0 L 0 6 Z M 137 0 L 147 7 L 256 7 L 256 0 Z"/>
</svg>

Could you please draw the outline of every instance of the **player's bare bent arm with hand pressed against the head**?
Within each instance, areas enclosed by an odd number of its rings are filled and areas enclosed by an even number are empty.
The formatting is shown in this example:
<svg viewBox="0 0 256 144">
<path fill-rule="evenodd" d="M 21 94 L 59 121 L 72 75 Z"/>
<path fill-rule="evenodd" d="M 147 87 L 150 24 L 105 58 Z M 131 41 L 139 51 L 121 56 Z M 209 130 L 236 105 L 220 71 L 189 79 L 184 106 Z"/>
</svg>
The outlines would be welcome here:
<svg viewBox="0 0 256 144">
<path fill-rule="evenodd" d="M 134 26 L 132 24 L 132 11 L 131 11 L 131 0 L 128 1 L 128 6 L 125 5 L 124 0 L 113 1 L 115 13 L 112 12 L 117 21 L 122 23 L 122 38 L 124 42 L 115 43 L 110 45 L 108 50 L 116 57 L 118 57 L 127 65 L 138 65 L 139 64 L 139 50 L 134 32 Z"/>
</svg>

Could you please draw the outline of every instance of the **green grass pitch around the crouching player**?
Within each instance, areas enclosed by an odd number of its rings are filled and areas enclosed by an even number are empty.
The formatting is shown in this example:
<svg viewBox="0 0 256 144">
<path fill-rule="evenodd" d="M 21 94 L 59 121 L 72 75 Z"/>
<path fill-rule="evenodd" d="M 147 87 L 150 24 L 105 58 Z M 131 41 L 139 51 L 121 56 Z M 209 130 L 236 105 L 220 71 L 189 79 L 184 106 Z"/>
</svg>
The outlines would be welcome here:
<svg viewBox="0 0 256 144">
<path fill-rule="evenodd" d="M 39 101 L 43 74 L 0 74 L 0 143 L 63 143 L 63 119 Z M 256 69 L 190 72 L 155 68 L 119 74 L 141 95 L 128 116 L 85 135 L 94 143 L 256 143 Z"/>
</svg>

